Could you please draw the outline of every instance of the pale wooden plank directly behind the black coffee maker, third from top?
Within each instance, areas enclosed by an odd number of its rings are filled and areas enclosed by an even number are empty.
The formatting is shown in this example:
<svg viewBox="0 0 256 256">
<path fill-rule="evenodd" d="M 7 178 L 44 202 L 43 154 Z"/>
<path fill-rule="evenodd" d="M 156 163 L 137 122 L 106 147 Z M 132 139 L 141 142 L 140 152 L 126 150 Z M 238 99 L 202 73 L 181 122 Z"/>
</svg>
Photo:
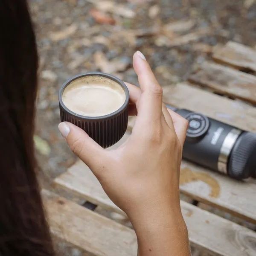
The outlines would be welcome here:
<svg viewBox="0 0 256 256">
<path fill-rule="evenodd" d="M 256 108 L 186 83 L 163 87 L 163 101 L 177 108 L 200 112 L 246 131 L 256 131 Z"/>
</svg>

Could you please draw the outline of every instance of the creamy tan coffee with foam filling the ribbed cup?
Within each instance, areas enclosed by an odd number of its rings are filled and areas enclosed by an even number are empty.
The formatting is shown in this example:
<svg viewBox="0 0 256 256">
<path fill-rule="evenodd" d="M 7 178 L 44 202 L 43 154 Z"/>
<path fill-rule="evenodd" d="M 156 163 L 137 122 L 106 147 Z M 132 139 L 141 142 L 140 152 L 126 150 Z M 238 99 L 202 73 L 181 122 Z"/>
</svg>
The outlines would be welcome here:
<svg viewBox="0 0 256 256">
<path fill-rule="evenodd" d="M 62 94 L 62 102 L 82 116 L 105 116 L 125 103 L 126 94 L 117 82 L 102 76 L 84 76 L 72 81 Z"/>
</svg>

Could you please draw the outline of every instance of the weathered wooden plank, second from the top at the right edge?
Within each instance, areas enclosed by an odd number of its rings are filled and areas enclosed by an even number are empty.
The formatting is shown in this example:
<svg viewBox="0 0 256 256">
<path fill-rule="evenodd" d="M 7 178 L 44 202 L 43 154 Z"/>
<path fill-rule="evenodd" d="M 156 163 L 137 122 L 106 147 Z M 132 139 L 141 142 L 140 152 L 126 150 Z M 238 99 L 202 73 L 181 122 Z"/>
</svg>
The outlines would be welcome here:
<svg viewBox="0 0 256 256">
<path fill-rule="evenodd" d="M 204 62 L 189 81 L 214 89 L 228 96 L 256 103 L 256 76 L 230 67 Z"/>
</svg>

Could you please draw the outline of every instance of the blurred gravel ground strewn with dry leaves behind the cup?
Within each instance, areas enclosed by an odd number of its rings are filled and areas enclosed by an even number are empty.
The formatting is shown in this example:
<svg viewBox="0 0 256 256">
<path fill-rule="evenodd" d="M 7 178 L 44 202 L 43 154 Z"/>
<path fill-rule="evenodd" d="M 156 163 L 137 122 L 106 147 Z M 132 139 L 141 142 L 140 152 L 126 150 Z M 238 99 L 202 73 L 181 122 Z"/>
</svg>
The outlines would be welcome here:
<svg viewBox="0 0 256 256">
<path fill-rule="evenodd" d="M 58 90 L 71 76 L 103 71 L 138 84 L 131 59 L 140 50 L 160 84 L 173 86 L 217 44 L 256 47 L 254 0 L 32 0 L 31 8 L 41 58 L 35 142 L 48 189 L 76 160 L 57 127 Z"/>
</svg>

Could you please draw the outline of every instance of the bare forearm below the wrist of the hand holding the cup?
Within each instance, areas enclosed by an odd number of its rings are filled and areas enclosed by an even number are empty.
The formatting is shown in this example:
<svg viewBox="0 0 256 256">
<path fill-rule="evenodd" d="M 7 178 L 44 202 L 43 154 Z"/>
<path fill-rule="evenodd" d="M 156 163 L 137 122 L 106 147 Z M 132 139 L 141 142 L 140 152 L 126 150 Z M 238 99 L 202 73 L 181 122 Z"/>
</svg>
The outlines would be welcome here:
<svg viewBox="0 0 256 256">
<path fill-rule="evenodd" d="M 138 256 L 191 256 L 180 210 L 156 209 L 131 221 L 138 239 Z"/>
</svg>

